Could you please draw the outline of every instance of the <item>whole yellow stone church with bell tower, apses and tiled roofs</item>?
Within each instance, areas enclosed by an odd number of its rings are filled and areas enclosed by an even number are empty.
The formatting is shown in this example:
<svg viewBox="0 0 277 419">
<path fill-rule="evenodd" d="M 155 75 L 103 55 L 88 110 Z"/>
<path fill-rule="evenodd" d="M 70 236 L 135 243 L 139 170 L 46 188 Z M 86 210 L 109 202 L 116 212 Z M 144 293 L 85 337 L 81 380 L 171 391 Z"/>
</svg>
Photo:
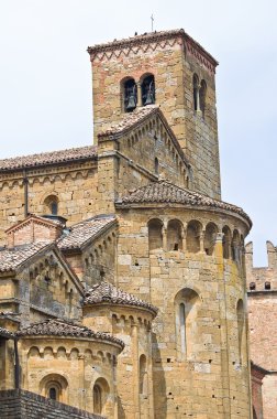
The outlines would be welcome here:
<svg viewBox="0 0 277 419">
<path fill-rule="evenodd" d="M 218 62 L 184 30 L 88 54 L 93 146 L 0 161 L 0 416 L 255 418 Z"/>
</svg>

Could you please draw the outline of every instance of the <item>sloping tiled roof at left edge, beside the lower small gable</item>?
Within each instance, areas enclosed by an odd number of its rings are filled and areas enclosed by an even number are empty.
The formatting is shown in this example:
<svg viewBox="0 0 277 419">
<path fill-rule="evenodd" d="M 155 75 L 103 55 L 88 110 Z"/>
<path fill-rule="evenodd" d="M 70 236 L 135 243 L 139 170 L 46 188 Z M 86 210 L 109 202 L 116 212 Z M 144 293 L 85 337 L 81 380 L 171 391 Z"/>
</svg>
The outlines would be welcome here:
<svg viewBox="0 0 277 419">
<path fill-rule="evenodd" d="M 21 264 L 32 258 L 52 241 L 37 241 L 30 245 L 22 245 L 12 249 L 0 250 L 0 272 L 15 270 Z"/>
</svg>

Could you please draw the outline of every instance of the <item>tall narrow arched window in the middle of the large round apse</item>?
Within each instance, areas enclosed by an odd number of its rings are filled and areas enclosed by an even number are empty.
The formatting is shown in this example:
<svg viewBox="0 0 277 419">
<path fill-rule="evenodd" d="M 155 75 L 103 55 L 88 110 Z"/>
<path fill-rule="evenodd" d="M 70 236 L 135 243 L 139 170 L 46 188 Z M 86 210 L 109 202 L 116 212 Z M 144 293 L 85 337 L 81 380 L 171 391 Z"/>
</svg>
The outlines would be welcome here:
<svg viewBox="0 0 277 419">
<path fill-rule="evenodd" d="M 184 288 L 175 297 L 176 347 L 181 359 L 195 357 L 198 348 L 197 316 L 200 298 L 190 288 Z"/>
</svg>

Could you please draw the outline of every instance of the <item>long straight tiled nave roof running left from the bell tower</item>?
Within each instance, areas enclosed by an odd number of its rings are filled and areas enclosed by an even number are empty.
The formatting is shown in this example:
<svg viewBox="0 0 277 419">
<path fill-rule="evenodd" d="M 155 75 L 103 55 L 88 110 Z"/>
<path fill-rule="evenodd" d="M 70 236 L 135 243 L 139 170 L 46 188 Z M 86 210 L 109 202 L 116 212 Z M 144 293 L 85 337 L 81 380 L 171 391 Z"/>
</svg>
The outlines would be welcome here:
<svg viewBox="0 0 277 419">
<path fill-rule="evenodd" d="M 3 159 L 0 160 L 0 172 L 95 158 L 97 158 L 97 147 L 86 146 L 67 150 Z"/>
</svg>

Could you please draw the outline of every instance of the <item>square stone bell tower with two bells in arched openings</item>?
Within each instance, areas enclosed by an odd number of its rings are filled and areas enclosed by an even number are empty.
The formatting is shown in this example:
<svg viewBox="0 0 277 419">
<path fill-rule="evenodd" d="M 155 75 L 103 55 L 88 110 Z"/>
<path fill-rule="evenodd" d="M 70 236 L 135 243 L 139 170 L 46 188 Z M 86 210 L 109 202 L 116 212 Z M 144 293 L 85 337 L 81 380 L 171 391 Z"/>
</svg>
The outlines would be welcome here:
<svg viewBox="0 0 277 419">
<path fill-rule="evenodd" d="M 191 189 L 221 198 L 215 67 L 184 30 L 88 47 L 98 133 L 142 106 L 160 107 L 191 164 Z"/>
</svg>

